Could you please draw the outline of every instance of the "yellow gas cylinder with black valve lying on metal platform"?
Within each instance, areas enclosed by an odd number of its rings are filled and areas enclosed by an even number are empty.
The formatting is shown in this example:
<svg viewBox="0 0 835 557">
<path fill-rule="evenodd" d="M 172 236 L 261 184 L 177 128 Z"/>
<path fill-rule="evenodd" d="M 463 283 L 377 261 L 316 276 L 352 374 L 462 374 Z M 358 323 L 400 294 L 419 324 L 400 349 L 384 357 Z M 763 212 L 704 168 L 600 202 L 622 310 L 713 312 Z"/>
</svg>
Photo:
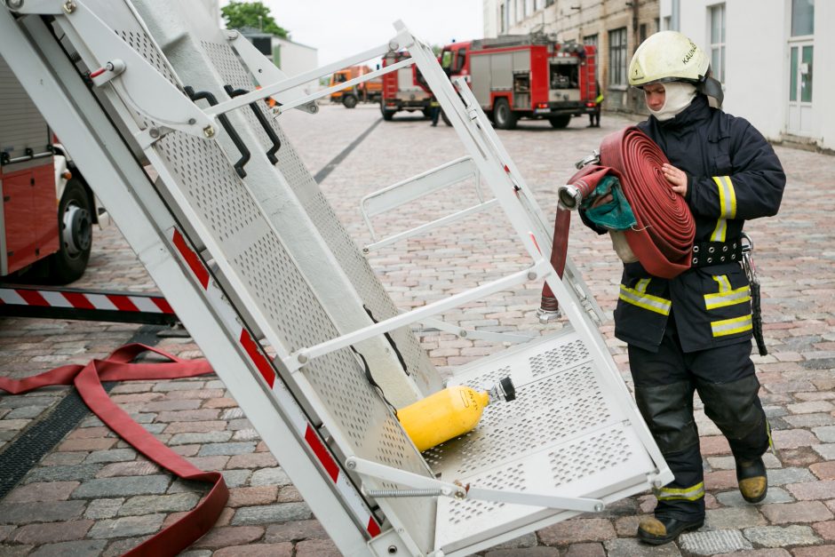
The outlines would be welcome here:
<svg viewBox="0 0 835 557">
<path fill-rule="evenodd" d="M 515 398 L 511 378 L 502 379 L 489 391 L 448 386 L 397 410 L 397 418 L 418 450 L 423 451 L 473 429 L 489 403 L 510 402 Z"/>
</svg>

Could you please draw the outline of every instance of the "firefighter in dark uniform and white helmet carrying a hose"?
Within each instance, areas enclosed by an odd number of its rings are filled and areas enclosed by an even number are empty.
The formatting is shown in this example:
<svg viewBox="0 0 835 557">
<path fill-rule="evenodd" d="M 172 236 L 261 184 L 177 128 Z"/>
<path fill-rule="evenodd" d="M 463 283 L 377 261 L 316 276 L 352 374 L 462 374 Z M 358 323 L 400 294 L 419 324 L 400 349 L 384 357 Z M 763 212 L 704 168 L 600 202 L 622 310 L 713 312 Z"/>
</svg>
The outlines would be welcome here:
<svg viewBox="0 0 835 557">
<path fill-rule="evenodd" d="M 739 261 L 744 221 L 776 214 L 785 174 L 751 123 L 718 108 L 721 84 L 688 37 L 650 36 L 632 57 L 629 82 L 643 90 L 651 113 L 638 127 L 669 159 L 664 178 L 696 221 L 692 267 L 665 280 L 638 261 L 624 263 L 615 310 L 636 402 L 675 476 L 656 490 L 654 517 L 638 527 L 641 540 L 658 545 L 704 523 L 694 392 L 728 438 L 744 499 L 766 496 L 762 455 L 771 435 L 750 357 L 749 279 Z"/>
</svg>

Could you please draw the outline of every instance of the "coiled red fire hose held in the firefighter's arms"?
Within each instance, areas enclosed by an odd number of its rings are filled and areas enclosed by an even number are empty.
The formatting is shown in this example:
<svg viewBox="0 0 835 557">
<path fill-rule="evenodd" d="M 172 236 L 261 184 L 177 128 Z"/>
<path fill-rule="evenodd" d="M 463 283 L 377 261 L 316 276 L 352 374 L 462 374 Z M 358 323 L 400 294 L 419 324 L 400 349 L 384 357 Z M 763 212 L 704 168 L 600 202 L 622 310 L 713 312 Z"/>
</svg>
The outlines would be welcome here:
<svg viewBox="0 0 835 557">
<path fill-rule="evenodd" d="M 672 191 L 661 167 L 669 163 L 656 143 L 632 126 L 606 136 L 600 144 L 600 164 L 589 164 L 569 179 L 579 198 L 590 195 L 600 179 L 611 174 L 620 181 L 637 224 L 624 231 L 626 242 L 650 275 L 671 279 L 690 268 L 690 251 L 696 223 L 687 202 Z M 575 203 L 570 209 L 577 209 Z M 551 263 L 562 276 L 568 249 L 569 218 L 557 210 Z M 560 267 L 557 267 L 557 265 Z M 542 309 L 558 304 L 547 284 L 542 289 Z"/>
</svg>

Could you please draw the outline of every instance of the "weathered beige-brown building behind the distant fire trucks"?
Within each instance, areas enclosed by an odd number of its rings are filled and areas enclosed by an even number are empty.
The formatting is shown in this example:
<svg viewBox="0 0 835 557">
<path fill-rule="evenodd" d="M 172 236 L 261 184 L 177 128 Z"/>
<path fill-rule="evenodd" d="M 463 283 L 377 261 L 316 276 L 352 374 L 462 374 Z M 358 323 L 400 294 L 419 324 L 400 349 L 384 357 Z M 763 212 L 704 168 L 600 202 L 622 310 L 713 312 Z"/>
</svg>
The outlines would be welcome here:
<svg viewBox="0 0 835 557">
<path fill-rule="evenodd" d="M 561 41 L 594 44 L 603 108 L 647 114 L 626 82 L 638 45 L 660 28 L 659 0 L 484 0 L 484 36 L 542 30 Z"/>
</svg>

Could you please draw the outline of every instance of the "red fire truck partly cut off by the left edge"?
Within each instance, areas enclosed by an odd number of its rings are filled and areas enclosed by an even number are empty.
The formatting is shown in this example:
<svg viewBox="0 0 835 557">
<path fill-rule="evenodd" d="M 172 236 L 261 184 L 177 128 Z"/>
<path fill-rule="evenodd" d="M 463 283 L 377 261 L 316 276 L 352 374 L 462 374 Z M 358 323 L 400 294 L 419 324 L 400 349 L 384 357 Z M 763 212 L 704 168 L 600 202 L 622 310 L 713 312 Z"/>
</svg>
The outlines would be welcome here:
<svg viewBox="0 0 835 557">
<path fill-rule="evenodd" d="M 0 107 L 0 275 L 75 281 L 99 222 L 95 197 L 3 58 Z"/>
</svg>

